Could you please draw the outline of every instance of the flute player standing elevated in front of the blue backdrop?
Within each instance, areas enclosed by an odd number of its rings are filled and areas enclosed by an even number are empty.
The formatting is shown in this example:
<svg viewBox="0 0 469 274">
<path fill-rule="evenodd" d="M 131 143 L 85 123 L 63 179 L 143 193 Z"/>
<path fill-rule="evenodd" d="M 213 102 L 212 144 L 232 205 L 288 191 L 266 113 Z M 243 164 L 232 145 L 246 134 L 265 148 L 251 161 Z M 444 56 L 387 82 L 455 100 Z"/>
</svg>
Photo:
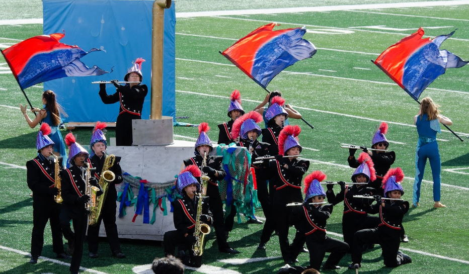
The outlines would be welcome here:
<svg viewBox="0 0 469 274">
<path fill-rule="evenodd" d="M 137 58 L 134 65 L 127 70 L 124 81 L 140 82 L 143 75 L 141 72 L 141 64 L 145 60 Z M 141 112 L 145 96 L 148 88 L 145 84 L 128 83 L 120 85 L 117 80 L 111 81 L 116 87 L 116 93 L 108 95 L 106 93 L 106 84 L 99 85 L 99 96 L 104 104 L 114 104 L 119 102 L 119 116 L 116 121 L 116 145 L 131 146 L 132 145 L 132 120 L 141 119 Z"/>
</svg>

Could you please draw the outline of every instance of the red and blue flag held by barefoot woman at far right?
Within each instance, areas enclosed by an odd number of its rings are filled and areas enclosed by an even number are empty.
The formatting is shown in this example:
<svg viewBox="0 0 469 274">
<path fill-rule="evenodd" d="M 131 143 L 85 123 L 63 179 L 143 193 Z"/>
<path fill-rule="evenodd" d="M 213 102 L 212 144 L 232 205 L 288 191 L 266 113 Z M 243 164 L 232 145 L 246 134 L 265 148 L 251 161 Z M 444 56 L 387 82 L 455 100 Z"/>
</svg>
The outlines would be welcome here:
<svg viewBox="0 0 469 274">
<path fill-rule="evenodd" d="M 441 43 L 454 31 L 433 40 L 422 39 L 424 33 L 420 28 L 387 48 L 373 62 L 416 101 L 433 80 L 445 73 L 446 68 L 462 67 L 468 63 L 447 50 L 440 50 Z"/>
</svg>

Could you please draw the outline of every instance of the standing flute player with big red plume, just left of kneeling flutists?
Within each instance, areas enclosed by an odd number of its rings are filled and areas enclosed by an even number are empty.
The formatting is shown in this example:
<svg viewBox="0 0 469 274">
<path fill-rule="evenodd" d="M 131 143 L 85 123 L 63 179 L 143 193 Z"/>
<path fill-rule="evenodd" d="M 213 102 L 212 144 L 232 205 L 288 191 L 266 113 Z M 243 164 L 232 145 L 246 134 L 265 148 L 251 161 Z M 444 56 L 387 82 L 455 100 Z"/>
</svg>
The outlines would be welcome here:
<svg viewBox="0 0 469 274">
<path fill-rule="evenodd" d="M 273 214 L 276 218 L 267 219 L 262 230 L 261 241 L 258 249 L 265 249 L 266 242 L 269 241 L 272 232 L 276 229 L 280 250 L 285 263 L 293 263 L 288 241 L 288 229 L 290 227 L 290 210 L 286 204 L 292 202 L 302 202 L 301 179 L 309 167 L 309 161 L 298 159 L 302 147 L 299 145 L 297 136 L 301 132 L 298 126 L 286 126 L 278 136 L 278 155 L 274 160 L 266 161 L 268 164 L 269 184 L 275 188 L 273 193 Z M 290 157 L 283 157 L 283 156 Z M 298 234 L 298 233 L 297 233 Z M 295 237 L 292 250 L 297 246 L 302 247 L 304 241 L 298 241 Z"/>
</svg>

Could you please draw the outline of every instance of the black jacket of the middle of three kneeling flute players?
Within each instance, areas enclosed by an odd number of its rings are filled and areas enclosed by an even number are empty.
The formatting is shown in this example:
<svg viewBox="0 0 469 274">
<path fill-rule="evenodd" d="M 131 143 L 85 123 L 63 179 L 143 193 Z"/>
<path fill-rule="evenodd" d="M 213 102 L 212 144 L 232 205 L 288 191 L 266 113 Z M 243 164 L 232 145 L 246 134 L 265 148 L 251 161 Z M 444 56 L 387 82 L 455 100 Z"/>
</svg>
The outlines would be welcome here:
<svg viewBox="0 0 469 274">
<path fill-rule="evenodd" d="M 341 190 L 337 195 L 333 191 L 327 191 L 327 201 L 333 205 L 344 201 L 344 214 L 351 215 L 367 215 L 369 203 L 372 199 L 353 198 L 354 195 L 373 195 L 375 190 L 368 187 L 358 187 L 357 185 L 346 186 L 345 190 Z"/>
</svg>

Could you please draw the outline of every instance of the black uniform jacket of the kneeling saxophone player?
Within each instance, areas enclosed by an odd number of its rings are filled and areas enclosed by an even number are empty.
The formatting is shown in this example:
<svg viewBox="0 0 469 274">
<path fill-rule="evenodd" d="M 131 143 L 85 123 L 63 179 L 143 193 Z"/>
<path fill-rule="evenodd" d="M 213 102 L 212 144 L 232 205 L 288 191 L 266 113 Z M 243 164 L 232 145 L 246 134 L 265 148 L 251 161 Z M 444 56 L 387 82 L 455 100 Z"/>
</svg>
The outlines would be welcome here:
<svg viewBox="0 0 469 274">
<path fill-rule="evenodd" d="M 208 225 L 211 225 L 213 223 L 213 214 L 210 212 L 208 205 L 209 198 L 202 198 L 202 214 L 210 216 Z M 172 202 L 174 227 L 179 233 L 183 235 L 186 233 L 189 235 L 194 234 L 198 203 L 199 197 L 197 195 L 191 200 L 186 194 L 183 198 Z"/>
</svg>

